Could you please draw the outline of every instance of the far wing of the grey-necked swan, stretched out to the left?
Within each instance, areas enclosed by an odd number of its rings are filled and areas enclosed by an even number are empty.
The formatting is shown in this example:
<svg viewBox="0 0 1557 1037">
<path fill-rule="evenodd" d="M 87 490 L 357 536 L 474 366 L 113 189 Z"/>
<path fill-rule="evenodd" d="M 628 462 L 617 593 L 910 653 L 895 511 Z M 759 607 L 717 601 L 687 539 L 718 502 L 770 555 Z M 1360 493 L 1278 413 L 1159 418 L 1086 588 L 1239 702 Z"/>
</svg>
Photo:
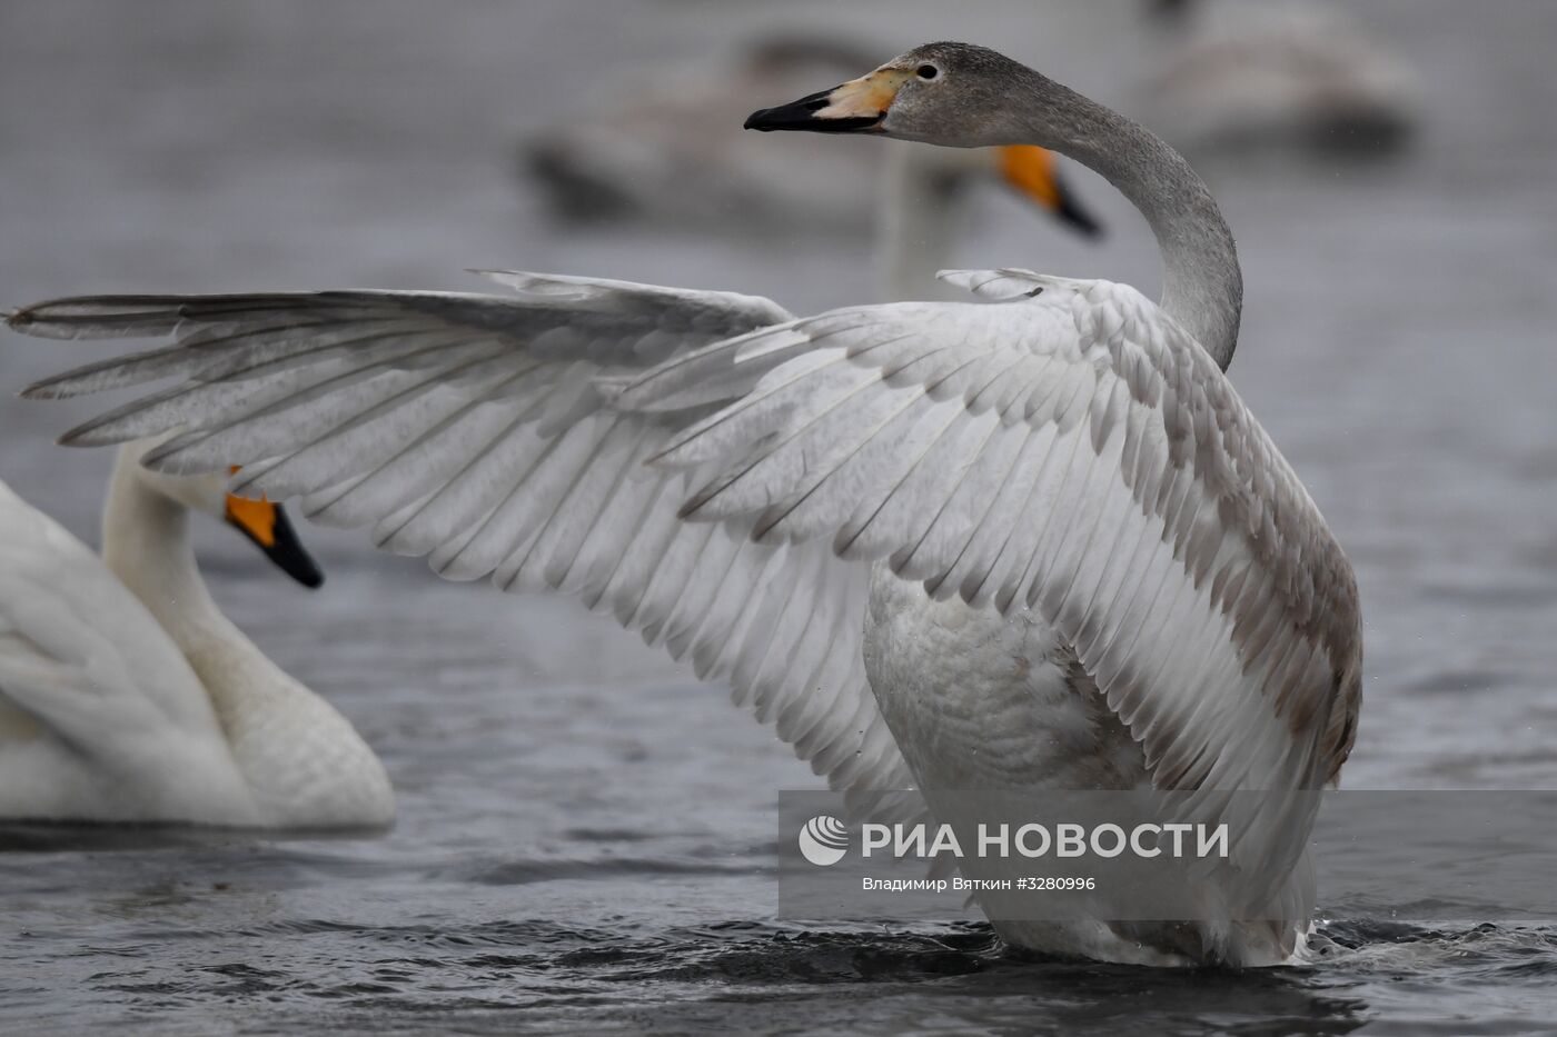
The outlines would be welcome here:
<svg viewBox="0 0 1557 1037">
<path fill-rule="evenodd" d="M 450 579 L 576 595 L 729 682 L 835 788 L 908 788 L 864 677 L 867 571 L 821 540 L 757 543 L 749 523 L 680 522 L 712 469 L 643 461 L 710 408 L 620 413 L 598 388 L 789 315 L 727 293 L 494 277 L 517 294 L 118 296 L 40 304 L 9 324 L 174 338 L 28 389 L 47 399 L 177 378 L 64 442 L 177 428 L 148 464 L 241 464 L 235 492 L 302 497 L 311 518 L 371 526 L 378 547 L 425 554 Z"/>
</svg>

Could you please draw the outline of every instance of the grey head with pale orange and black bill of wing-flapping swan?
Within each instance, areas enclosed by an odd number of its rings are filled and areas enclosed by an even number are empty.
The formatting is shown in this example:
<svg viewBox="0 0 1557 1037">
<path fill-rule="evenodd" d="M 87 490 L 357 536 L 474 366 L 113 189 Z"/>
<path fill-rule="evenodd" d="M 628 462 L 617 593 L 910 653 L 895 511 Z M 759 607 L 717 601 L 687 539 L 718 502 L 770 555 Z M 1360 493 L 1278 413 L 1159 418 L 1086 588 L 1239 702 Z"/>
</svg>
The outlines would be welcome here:
<svg viewBox="0 0 1557 1037">
<path fill-rule="evenodd" d="M 746 129 L 881 134 L 950 148 L 1009 145 L 1039 73 L 987 47 L 925 44 L 875 72 L 799 101 L 752 112 Z M 1017 93 L 1014 95 L 1014 90 Z"/>
</svg>

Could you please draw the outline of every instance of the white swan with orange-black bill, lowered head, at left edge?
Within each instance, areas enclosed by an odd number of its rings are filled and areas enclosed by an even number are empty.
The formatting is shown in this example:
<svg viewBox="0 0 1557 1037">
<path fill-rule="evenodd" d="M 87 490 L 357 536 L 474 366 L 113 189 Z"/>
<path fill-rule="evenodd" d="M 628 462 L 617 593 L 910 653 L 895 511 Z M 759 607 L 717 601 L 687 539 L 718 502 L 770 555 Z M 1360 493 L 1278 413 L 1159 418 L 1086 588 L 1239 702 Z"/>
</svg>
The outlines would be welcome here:
<svg viewBox="0 0 1557 1037">
<path fill-rule="evenodd" d="M 0 817 L 383 827 L 378 758 L 212 601 L 188 512 L 226 520 L 308 587 L 280 508 L 226 472 L 160 475 L 120 448 L 103 557 L 0 483 Z"/>
</svg>

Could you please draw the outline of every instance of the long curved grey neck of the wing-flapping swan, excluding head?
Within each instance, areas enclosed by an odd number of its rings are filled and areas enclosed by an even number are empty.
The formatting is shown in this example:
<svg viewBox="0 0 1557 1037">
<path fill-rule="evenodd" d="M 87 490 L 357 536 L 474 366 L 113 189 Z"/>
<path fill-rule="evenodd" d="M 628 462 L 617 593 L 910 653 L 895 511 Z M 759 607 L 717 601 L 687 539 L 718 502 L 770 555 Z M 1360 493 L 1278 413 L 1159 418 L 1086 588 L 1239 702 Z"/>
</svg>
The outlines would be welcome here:
<svg viewBox="0 0 1557 1037">
<path fill-rule="evenodd" d="M 1118 112 L 1042 76 L 1031 92 L 1021 143 L 1082 162 L 1135 204 L 1162 249 L 1163 310 L 1225 371 L 1238 346 L 1244 277 L 1233 232 L 1205 181 L 1182 154 Z"/>
</svg>

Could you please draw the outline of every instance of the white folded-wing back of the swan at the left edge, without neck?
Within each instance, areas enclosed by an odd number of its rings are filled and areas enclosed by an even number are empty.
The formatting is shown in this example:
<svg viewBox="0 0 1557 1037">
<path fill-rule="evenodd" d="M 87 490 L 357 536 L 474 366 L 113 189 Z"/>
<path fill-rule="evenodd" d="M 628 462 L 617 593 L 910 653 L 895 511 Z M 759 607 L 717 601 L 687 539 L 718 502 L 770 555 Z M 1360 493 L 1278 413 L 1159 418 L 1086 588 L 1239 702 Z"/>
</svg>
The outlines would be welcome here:
<svg viewBox="0 0 1557 1037">
<path fill-rule="evenodd" d="M 249 799 L 151 612 L 0 483 L 0 816 L 248 824 Z M 240 819 L 207 817 L 218 800 Z"/>
</svg>

